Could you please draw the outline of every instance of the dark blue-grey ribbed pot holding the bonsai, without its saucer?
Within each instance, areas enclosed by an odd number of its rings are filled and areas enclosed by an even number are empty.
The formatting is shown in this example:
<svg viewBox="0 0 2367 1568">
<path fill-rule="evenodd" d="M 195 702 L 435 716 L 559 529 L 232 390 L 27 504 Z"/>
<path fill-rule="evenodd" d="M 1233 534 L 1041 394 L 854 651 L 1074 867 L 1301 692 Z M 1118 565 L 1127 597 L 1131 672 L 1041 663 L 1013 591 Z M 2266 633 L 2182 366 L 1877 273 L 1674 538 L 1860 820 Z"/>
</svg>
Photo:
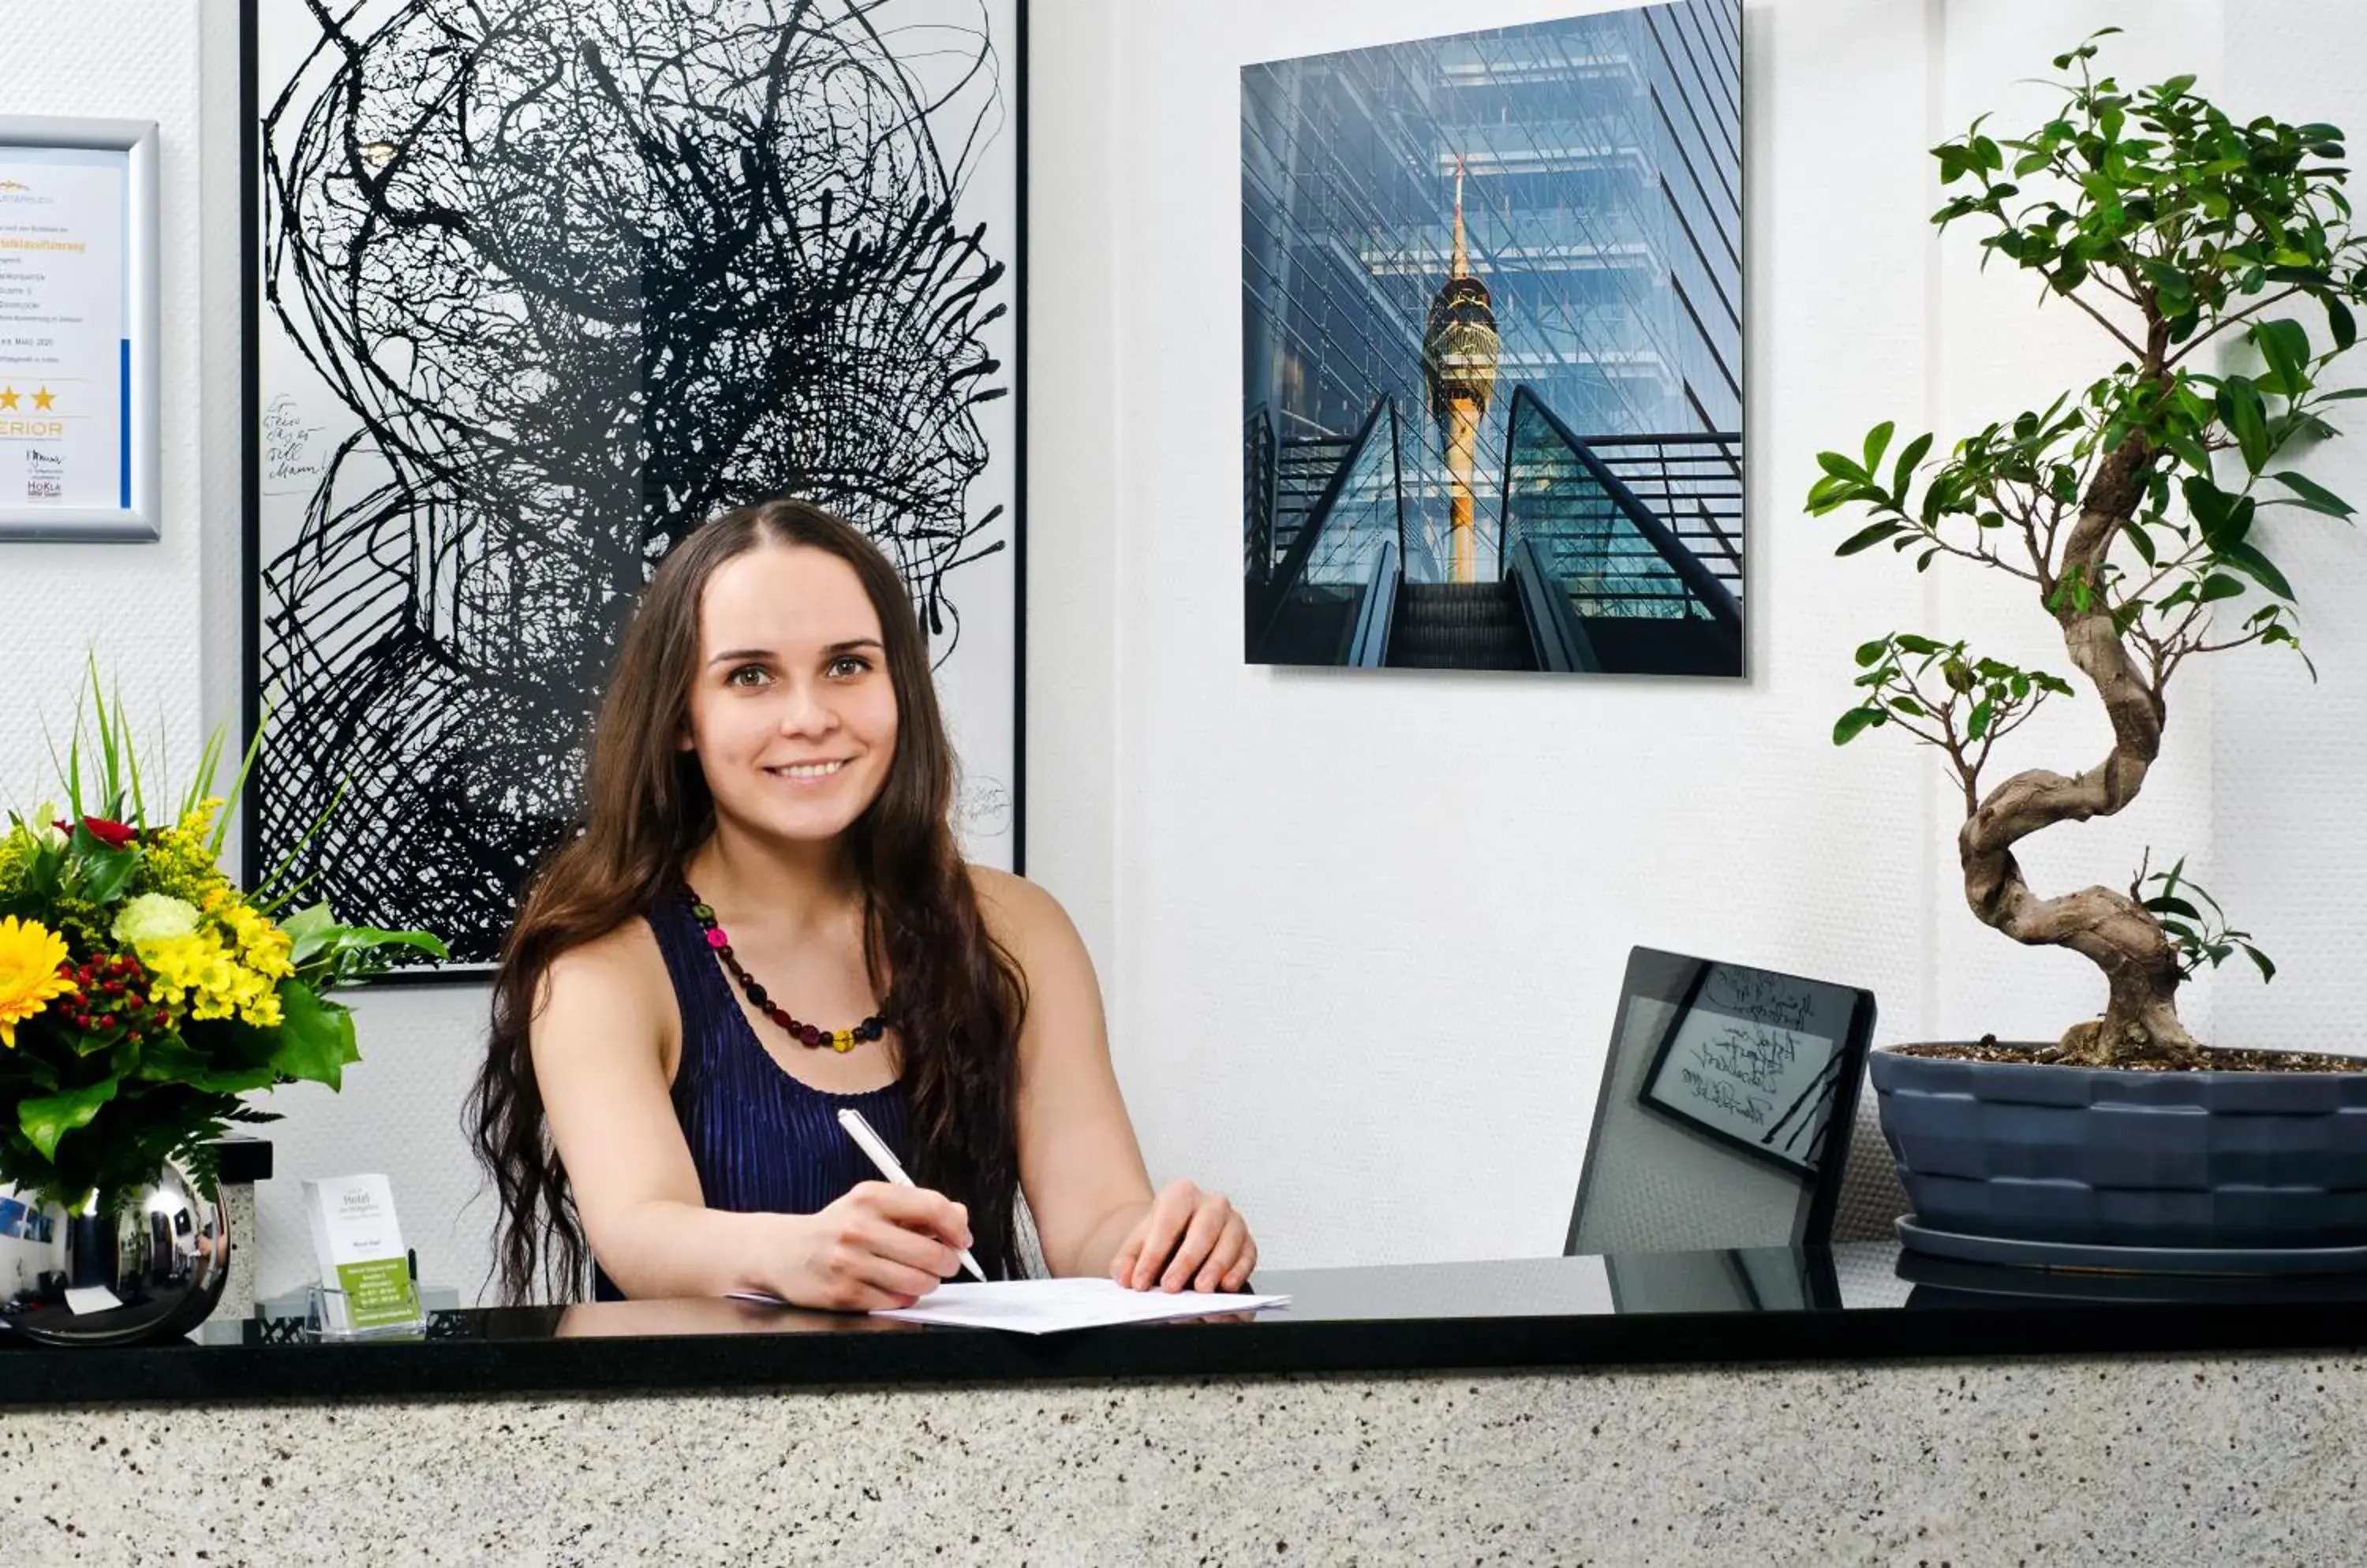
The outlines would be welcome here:
<svg viewBox="0 0 2367 1568">
<path fill-rule="evenodd" d="M 2090 1246 L 2367 1244 L 2367 1074 L 1868 1057 L 1917 1225 Z"/>
</svg>

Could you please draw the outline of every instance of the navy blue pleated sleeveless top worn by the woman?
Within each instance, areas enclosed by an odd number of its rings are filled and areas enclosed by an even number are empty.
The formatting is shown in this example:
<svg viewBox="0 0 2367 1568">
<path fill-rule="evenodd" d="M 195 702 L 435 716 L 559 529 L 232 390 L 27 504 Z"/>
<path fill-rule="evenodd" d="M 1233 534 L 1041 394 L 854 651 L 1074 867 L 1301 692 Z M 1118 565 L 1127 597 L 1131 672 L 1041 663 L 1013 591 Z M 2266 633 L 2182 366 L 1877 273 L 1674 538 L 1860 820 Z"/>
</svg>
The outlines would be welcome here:
<svg viewBox="0 0 2367 1568">
<path fill-rule="evenodd" d="M 765 1055 L 731 981 L 708 948 L 686 896 L 649 913 L 682 1010 L 682 1064 L 675 1069 L 675 1119 L 698 1166 L 708 1209 L 731 1213 L 817 1213 L 878 1171 L 838 1126 L 852 1104 L 878 1135 L 909 1159 L 904 1086 L 833 1095 L 812 1088 Z M 594 1301 L 623 1301 L 606 1272 L 592 1270 Z"/>
</svg>

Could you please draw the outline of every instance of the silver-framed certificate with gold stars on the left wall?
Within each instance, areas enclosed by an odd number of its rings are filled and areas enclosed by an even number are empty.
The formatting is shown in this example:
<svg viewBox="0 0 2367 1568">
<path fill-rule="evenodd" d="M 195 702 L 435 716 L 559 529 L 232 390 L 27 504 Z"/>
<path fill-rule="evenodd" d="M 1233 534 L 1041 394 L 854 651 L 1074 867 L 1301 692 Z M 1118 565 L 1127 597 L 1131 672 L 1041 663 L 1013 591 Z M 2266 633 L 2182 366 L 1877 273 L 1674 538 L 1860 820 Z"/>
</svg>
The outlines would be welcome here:
<svg viewBox="0 0 2367 1568">
<path fill-rule="evenodd" d="M 156 125 L 0 116 L 0 539 L 156 537 Z"/>
</svg>

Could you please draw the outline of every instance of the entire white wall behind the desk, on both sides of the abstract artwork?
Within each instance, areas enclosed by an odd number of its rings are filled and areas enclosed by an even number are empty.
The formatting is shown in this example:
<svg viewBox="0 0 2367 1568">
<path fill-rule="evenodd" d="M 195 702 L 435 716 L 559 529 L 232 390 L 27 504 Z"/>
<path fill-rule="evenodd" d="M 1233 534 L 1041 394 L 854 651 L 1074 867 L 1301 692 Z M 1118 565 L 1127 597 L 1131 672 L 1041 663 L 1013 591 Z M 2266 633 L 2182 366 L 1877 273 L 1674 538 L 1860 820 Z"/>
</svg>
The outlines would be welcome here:
<svg viewBox="0 0 2367 1568">
<path fill-rule="evenodd" d="M 1475 0 L 1451 26 L 1584 0 Z M 204 12 L 204 14 L 201 14 Z M 163 125 L 166 520 L 154 546 L 0 546 L 0 785 L 97 643 L 175 745 L 234 710 L 237 54 L 230 5 L 90 0 L 0 31 L 12 111 Z M 1875 986 L 1882 1036 L 2059 1029 L 2085 965 L 2021 953 L 1955 894 L 1953 806 L 1896 736 L 1834 752 L 1849 650 L 1967 634 L 2062 669 L 1991 584 L 1834 561 L 1799 497 L 1877 419 L 1958 435 L 2097 374 L 2092 329 L 1934 244 L 1924 149 L 2090 26 L 2126 76 L 2367 125 L 2343 0 L 1766 0 L 1749 47 L 1752 679 L 1735 686 L 1250 669 L 1238 655 L 1238 69 L 1439 31 L 1418 0 L 1034 0 L 1030 866 L 1112 1003 L 1153 1168 L 1226 1185 L 1273 1263 L 1553 1251 L 1628 944 Z M 204 38 L 199 38 L 204 33 Z M 2225 47 L 2223 47 L 2225 38 Z M 204 45 L 204 47 L 199 47 Z M 199 116 L 204 114 L 204 177 Z M 204 319 L 199 319 L 199 277 Z M 2324 475 L 2367 497 L 2367 442 Z M 2192 854 L 2287 965 L 2189 1007 L 2234 1041 L 2339 1045 L 2360 937 L 2350 828 L 2367 648 L 2336 622 L 2353 530 L 2291 539 L 2322 681 L 2187 676 L 2123 823 L 2033 844 L 2040 887 Z M 19 674 L 21 672 L 21 674 Z M 2085 764 L 2092 707 L 2010 762 Z M 2284 747 L 2279 754 L 2275 747 Z M 2275 802 L 2263 809 L 2260 802 Z M 296 1180 L 379 1168 L 431 1282 L 473 1287 L 488 1213 L 459 1142 L 483 991 L 362 1000 L 346 1095 L 277 1097 L 265 1291 L 308 1272 Z"/>
</svg>

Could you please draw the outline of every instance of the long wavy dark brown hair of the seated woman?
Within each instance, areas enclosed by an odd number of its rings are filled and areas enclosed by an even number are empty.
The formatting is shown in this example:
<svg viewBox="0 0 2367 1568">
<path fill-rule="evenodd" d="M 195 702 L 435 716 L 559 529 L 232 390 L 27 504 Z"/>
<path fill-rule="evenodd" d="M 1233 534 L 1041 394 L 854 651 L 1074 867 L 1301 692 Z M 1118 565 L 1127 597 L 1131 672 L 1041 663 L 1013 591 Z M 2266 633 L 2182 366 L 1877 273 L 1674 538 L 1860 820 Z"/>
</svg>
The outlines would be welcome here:
<svg viewBox="0 0 2367 1568">
<path fill-rule="evenodd" d="M 1020 1272 L 1015 1086 L 1027 989 L 985 927 L 954 844 L 954 747 L 921 620 L 897 570 L 859 530 L 805 501 L 760 501 L 696 527 L 651 575 L 592 728 L 580 830 L 535 877 L 502 946 L 469 1130 L 502 1204 L 504 1301 L 528 1301 L 537 1282 L 556 1301 L 582 1291 L 589 1249 L 544 1123 L 528 1036 L 552 963 L 672 896 L 715 828 L 705 773 L 677 738 L 689 728 L 708 579 L 760 546 L 838 556 L 878 610 L 897 743 L 878 797 L 847 828 L 847 851 L 864 894 L 871 984 L 888 981 L 883 1012 L 899 1036 L 911 1175 L 968 1204 L 973 1251 L 987 1270 Z"/>
</svg>

